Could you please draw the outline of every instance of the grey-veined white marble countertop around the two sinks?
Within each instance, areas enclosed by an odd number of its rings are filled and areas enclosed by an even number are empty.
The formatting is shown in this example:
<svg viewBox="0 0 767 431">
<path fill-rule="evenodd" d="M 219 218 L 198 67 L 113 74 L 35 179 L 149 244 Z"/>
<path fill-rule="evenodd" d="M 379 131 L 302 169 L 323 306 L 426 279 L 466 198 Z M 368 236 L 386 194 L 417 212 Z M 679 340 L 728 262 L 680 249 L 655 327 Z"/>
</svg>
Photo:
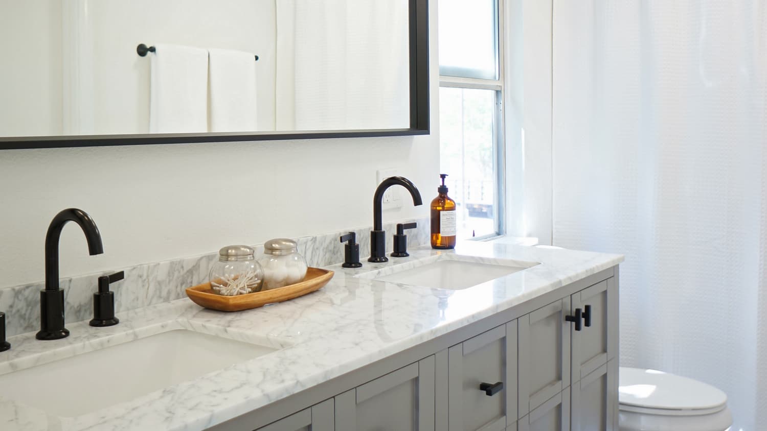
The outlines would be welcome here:
<svg viewBox="0 0 767 431">
<path fill-rule="evenodd" d="M 354 278 L 376 269 L 413 266 L 439 254 L 486 263 L 540 264 L 459 291 Z M 388 263 L 364 262 L 361 269 L 331 266 L 336 275 L 320 291 L 262 309 L 215 312 L 179 299 L 120 313 L 120 325 L 109 328 L 68 323 L 71 336 L 62 340 L 37 341 L 34 332 L 9 338 L 13 348 L 0 353 L 0 374 L 175 328 L 280 350 L 83 416 L 51 416 L 0 397 L 0 429 L 205 429 L 623 261 L 621 255 L 502 241 L 463 242 L 449 251 L 419 248 L 410 255 Z"/>
</svg>

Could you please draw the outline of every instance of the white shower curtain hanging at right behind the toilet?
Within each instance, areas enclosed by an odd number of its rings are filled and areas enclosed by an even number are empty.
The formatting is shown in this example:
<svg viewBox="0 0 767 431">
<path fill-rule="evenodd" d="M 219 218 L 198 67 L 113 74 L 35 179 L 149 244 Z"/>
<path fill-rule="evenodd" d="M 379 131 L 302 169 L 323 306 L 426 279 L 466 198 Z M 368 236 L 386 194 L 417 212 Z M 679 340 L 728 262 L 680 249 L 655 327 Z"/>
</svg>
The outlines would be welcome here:
<svg viewBox="0 0 767 431">
<path fill-rule="evenodd" d="M 555 245 L 625 253 L 621 365 L 767 429 L 767 2 L 554 2 Z"/>
</svg>

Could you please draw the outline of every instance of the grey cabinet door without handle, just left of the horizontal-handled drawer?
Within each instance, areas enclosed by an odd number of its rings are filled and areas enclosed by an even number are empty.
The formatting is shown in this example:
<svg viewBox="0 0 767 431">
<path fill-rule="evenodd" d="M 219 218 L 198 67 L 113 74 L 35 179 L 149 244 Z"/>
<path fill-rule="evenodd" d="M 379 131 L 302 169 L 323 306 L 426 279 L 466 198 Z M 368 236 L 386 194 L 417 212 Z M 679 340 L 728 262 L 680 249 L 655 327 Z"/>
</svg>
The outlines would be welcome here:
<svg viewBox="0 0 767 431">
<path fill-rule="evenodd" d="M 335 397 L 337 431 L 433 431 L 434 357 Z"/>
</svg>

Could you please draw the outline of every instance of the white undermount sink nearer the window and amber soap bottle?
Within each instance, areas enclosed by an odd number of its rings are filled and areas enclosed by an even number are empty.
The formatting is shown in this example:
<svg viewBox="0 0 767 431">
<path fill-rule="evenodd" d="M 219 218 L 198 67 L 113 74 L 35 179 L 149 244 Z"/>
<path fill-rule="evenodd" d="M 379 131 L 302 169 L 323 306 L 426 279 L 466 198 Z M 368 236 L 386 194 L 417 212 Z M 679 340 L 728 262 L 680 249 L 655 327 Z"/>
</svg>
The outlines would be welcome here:
<svg viewBox="0 0 767 431">
<path fill-rule="evenodd" d="M 384 282 L 396 282 L 410 286 L 433 287 L 438 289 L 461 290 L 518 273 L 538 262 L 522 260 L 492 260 L 477 262 L 468 256 L 439 255 L 412 265 L 390 266 L 359 277 Z"/>
</svg>

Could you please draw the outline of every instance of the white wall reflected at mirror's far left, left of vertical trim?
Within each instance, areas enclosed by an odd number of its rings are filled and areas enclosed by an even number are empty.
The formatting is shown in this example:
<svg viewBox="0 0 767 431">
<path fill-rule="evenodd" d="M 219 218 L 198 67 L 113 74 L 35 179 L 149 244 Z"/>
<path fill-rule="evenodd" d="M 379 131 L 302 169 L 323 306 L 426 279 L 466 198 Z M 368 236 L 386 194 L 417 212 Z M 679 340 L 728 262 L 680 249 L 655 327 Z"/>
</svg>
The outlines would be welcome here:
<svg viewBox="0 0 767 431">
<path fill-rule="evenodd" d="M 0 11 L 0 136 L 60 135 L 61 2 L 0 0 Z"/>
</svg>

